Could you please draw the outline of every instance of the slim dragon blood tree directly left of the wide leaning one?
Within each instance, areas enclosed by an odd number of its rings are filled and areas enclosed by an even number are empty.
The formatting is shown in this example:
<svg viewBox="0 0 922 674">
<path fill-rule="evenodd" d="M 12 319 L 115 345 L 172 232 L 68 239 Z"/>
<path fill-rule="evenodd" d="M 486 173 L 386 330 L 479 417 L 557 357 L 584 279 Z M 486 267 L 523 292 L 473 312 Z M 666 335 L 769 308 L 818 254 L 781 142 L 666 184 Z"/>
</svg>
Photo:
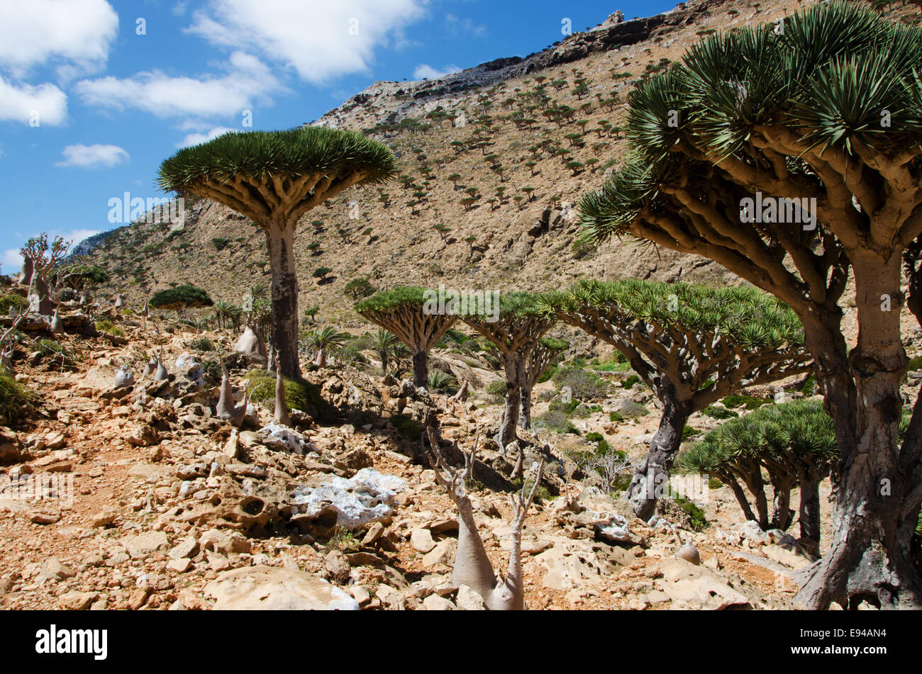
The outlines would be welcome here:
<svg viewBox="0 0 922 674">
<path fill-rule="evenodd" d="M 528 391 L 529 396 L 531 394 L 531 383 L 534 382 L 529 383 L 526 373 L 529 365 L 537 369 L 531 362 L 532 354 L 557 319 L 541 311 L 537 295 L 515 292 L 501 295 L 499 300 L 498 315 L 473 314 L 465 316 L 464 321 L 493 344 L 502 363 L 506 376 L 506 398 L 500 431 L 495 439 L 500 447 L 506 447 L 515 439 L 523 389 Z"/>
</svg>

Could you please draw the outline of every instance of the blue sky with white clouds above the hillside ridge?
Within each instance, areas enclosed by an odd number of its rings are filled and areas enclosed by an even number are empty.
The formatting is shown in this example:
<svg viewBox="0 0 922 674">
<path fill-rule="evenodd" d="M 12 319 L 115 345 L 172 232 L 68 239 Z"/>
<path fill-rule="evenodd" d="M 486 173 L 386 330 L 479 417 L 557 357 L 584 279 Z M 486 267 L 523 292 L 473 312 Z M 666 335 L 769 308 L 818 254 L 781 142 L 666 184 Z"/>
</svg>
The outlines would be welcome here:
<svg viewBox="0 0 922 674">
<path fill-rule="evenodd" d="M 526 56 L 561 40 L 565 18 L 583 30 L 674 4 L 2 0 L 3 272 L 35 234 L 119 227 L 110 200 L 162 196 L 157 169 L 183 145 L 310 122 L 378 80 Z"/>
</svg>

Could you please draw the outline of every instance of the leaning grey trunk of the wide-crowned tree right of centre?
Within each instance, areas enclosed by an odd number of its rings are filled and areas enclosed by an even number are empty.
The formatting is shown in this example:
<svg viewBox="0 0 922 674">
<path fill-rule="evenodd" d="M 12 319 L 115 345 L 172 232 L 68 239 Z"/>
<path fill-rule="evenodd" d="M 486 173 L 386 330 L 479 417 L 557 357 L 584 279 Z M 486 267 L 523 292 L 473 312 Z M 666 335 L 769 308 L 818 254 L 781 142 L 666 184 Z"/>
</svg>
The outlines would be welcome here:
<svg viewBox="0 0 922 674">
<path fill-rule="evenodd" d="M 669 470 L 676 459 L 682 442 L 682 431 L 691 414 L 688 407 L 681 405 L 665 390 L 661 396 L 663 415 L 659 428 L 650 442 L 646 457 L 637 466 L 628 486 L 627 499 L 634 513 L 644 521 L 656 514 L 656 501 L 668 493 Z"/>
</svg>

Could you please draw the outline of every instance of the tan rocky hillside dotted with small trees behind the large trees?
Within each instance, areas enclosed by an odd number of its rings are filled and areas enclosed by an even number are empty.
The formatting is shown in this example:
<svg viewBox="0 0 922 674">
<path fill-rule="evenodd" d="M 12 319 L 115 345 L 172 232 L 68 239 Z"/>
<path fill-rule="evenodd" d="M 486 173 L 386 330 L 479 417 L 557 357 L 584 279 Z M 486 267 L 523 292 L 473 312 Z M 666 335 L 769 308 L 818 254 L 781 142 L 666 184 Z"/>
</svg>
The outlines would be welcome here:
<svg viewBox="0 0 922 674">
<path fill-rule="evenodd" d="M 574 245 L 571 208 L 620 160 L 619 122 L 632 83 L 679 59 L 712 30 L 772 21 L 794 0 L 702 0 L 656 17 L 567 36 L 526 58 L 501 58 L 420 82 L 378 82 L 315 123 L 362 129 L 393 147 L 399 180 L 352 190 L 304 216 L 297 239 L 301 306 L 356 321 L 344 286 L 397 284 L 538 290 L 579 276 L 732 283 L 709 261 L 612 242 Z M 439 227 L 436 229 L 435 227 Z M 186 203 L 179 224 L 116 230 L 90 253 L 112 272 L 105 292 L 138 301 L 194 283 L 239 304 L 267 281 L 265 240 L 216 203 Z M 314 270 L 332 273 L 323 282 Z"/>
</svg>

